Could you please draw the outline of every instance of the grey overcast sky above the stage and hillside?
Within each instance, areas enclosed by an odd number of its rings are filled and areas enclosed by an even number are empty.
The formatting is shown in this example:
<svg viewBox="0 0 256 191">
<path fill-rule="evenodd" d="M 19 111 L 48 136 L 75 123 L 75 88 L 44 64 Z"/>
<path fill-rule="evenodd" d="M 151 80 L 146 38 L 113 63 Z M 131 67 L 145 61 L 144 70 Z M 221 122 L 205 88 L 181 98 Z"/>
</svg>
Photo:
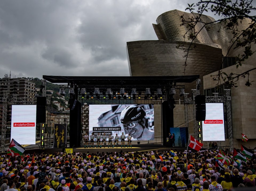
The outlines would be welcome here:
<svg viewBox="0 0 256 191">
<path fill-rule="evenodd" d="M 129 76 L 126 42 L 157 40 L 157 17 L 193 1 L 0 0 L 0 78 Z"/>
</svg>

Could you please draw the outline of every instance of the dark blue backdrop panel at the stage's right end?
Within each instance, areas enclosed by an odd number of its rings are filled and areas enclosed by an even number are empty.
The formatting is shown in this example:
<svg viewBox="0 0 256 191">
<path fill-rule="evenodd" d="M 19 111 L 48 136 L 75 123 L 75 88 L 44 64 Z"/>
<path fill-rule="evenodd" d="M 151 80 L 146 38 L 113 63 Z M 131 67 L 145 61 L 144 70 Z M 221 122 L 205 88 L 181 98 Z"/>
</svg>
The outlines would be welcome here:
<svg viewBox="0 0 256 191">
<path fill-rule="evenodd" d="M 186 147 L 188 138 L 187 127 L 171 127 L 170 133 L 175 135 L 175 147 Z M 167 135 L 168 136 L 168 135 Z M 168 143 L 167 143 L 168 144 Z M 169 143 L 170 144 L 170 143 Z"/>
</svg>

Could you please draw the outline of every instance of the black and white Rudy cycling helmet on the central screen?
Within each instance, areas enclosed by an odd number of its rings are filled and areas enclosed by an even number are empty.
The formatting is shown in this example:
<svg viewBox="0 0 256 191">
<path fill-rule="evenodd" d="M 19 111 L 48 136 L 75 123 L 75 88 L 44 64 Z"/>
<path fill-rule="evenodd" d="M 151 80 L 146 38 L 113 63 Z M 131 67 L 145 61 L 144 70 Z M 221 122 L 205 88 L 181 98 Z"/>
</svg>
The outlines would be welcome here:
<svg viewBox="0 0 256 191">
<path fill-rule="evenodd" d="M 139 105 L 127 106 L 120 115 L 120 120 L 122 124 L 127 124 L 133 121 L 140 121 L 145 118 L 146 112 L 143 107 Z"/>
</svg>

